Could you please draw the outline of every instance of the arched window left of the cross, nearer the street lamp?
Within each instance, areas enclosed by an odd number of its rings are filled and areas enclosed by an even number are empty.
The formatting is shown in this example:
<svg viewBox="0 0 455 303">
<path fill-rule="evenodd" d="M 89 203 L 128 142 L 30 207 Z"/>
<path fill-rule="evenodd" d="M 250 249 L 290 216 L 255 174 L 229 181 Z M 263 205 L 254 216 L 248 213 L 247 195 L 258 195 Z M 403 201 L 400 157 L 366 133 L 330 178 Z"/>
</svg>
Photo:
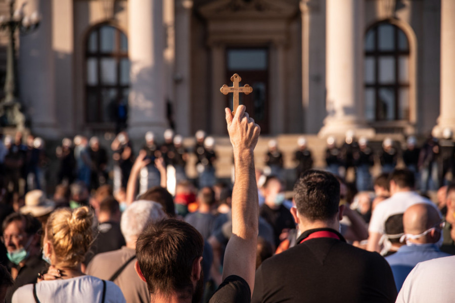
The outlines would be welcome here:
<svg viewBox="0 0 455 303">
<path fill-rule="evenodd" d="M 126 115 L 129 88 L 128 40 L 111 25 L 95 27 L 85 45 L 85 120 L 115 122 Z"/>
</svg>

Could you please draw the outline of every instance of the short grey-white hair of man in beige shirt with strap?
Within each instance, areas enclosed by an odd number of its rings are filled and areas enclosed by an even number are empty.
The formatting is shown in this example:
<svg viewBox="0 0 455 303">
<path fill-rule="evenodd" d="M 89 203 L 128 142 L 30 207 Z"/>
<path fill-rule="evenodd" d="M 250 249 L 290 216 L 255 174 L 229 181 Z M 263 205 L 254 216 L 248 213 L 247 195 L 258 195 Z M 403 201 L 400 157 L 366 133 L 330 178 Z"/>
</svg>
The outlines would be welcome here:
<svg viewBox="0 0 455 303">
<path fill-rule="evenodd" d="M 120 229 L 126 242 L 133 241 L 151 222 L 166 218 L 162 206 L 149 200 L 134 201 L 123 212 Z"/>
</svg>

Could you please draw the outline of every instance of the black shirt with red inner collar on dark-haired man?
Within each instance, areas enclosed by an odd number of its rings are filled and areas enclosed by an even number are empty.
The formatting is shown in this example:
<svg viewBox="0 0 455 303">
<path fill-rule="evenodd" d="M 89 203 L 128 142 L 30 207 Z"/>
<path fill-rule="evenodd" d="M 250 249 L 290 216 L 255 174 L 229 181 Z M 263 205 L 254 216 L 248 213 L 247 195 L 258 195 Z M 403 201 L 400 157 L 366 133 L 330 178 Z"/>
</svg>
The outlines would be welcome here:
<svg viewBox="0 0 455 303">
<path fill-rule="evenodd" d="M 316 231 L 339 239 L 303 239 Z M 256 271 L 252 302 L 395 302 L 392 271 L 377 252 L 347 244 L 333 229 L 305 231 L 294 247 Z"/>
</svg>

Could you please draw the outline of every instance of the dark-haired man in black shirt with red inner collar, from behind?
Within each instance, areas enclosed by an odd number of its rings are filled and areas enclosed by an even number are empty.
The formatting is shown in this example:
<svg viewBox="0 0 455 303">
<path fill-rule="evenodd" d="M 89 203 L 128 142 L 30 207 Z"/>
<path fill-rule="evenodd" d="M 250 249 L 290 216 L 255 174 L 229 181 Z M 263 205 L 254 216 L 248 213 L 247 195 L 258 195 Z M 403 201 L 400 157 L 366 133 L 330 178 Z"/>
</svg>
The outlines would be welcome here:
<svg viewBox="0 0 455 303">
<path fill-rule="evenodd" d="M 294 201 L 298 244 L 257 269 L 252 302 L 395 302 L 384 258 L 347 244 L 338 232 L 345 206 L 335 176 L 308 170 L 294 186 Z"/>
</svg>

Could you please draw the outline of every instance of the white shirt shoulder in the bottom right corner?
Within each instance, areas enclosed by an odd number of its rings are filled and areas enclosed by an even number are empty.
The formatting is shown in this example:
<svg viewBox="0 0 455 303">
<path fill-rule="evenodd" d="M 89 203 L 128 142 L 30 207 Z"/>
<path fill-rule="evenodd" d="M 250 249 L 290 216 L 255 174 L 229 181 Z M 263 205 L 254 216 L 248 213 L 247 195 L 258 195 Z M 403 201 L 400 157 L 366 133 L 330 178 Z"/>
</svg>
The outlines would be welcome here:
<svg viewBox="0 0 455 303">
<path fill-rule="evenodd" d="M 455 256 L 417 264 L 401 287 L 397 303 L 451 303 L 455 298 Z"/>
</svg>

